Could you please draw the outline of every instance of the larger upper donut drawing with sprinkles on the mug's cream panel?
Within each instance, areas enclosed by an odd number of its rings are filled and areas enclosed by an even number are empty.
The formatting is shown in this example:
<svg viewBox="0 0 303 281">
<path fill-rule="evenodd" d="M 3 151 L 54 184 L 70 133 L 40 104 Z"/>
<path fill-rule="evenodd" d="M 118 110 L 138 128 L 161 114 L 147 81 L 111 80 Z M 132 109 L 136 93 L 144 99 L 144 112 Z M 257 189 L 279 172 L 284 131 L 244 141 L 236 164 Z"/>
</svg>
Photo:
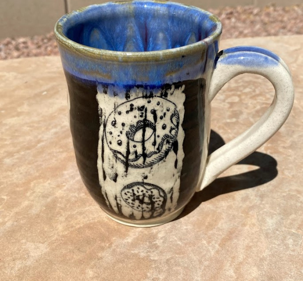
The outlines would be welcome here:
<svg viewBox="0 0 303 281">
<path fill-rule="evenodd" d="M 172 149 L 179 121 L 173 102 L 161 97 L 133 99 L 109 115 L 107 144 L 115 157 L 129 167 L 153 166 Z"/>
</svg>

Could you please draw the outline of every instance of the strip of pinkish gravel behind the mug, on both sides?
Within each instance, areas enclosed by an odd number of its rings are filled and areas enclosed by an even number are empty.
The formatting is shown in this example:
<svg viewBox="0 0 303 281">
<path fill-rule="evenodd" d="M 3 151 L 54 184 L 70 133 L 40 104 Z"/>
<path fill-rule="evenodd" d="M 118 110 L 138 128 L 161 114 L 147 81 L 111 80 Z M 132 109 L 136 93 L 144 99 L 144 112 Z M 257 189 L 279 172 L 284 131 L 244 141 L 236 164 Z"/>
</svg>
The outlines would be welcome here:
<svg viewBox="0 0 303 281">
<path fill-rule="evenodd" d="M 303 5 L 209 9 L 223 24 L 222 39 L 303 34 Z M 0 59 L 58 55 L 54 33 L 0 40 Z"/>
</svg>

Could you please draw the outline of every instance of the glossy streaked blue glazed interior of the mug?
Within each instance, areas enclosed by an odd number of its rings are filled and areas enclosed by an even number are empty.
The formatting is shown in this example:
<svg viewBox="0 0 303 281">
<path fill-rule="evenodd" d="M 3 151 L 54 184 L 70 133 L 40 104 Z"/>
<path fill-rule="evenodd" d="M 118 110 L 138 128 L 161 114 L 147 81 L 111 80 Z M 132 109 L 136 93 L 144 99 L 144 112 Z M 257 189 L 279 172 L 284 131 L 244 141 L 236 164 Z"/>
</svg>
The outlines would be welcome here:
<svg viewBox="0 0 303 281">
<path fill-rule="evenodd" d="M 216 29 L 218 20 L 209 12 L 170 2 L 92 5 L 70 13 L 62 22 L 68 39 L 119 52 L 178 48 L 203 40 Z"/>
</svg>

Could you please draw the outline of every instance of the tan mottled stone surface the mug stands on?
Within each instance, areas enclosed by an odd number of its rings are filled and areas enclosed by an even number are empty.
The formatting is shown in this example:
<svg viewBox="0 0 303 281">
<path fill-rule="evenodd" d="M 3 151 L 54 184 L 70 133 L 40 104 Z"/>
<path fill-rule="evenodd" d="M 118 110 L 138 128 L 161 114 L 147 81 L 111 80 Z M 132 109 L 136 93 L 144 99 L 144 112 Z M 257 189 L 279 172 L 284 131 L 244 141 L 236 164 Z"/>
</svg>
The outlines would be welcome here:
<svg viewBox="0 0 303 281">
<path fill-rule="evenodd" d="M 80 179 L 60 59 L 0 62 L 1 280 L 303 280 L 303 36 L 222 41 L 259 45 L 289 65 L 289 119 L 176 220 L 133 228 L 110 220 Z M 261 116 L 265 78 L 244 74 L 213 101 L 212 149 Z"/>
</svg>

